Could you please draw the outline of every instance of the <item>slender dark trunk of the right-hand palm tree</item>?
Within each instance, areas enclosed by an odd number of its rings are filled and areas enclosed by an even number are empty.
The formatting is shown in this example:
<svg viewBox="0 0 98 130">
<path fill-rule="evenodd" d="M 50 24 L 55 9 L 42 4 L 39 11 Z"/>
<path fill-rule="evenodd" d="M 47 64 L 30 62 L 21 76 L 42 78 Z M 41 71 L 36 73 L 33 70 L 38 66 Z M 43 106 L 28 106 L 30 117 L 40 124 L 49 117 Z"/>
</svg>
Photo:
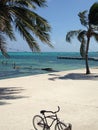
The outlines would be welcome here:
<svg viewBox="0 0 98 130">
<path fill-rule="evenodd" d="M 90 74 L 89 64 L 88 64 L 88 50 L 89 50 L 89 43 L 90 37 L 87 37 L 87 47 L 86 47 L 86 57 L 85 57 L 85 64 L 86 64 L 86 74 Z"/>
</svg>

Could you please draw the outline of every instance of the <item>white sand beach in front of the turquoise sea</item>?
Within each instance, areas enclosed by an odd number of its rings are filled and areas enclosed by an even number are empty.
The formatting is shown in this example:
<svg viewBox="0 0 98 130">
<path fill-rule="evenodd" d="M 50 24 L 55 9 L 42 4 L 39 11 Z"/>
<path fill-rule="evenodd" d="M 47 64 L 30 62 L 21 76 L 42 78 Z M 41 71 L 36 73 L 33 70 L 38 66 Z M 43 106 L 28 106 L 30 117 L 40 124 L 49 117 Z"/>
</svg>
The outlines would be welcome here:
<svg viewBox="0 0 98 130">
<path fill-rule="evenodd" d="M 98 130 L 98 68 L 0 80 L 0 130 L 34 130 L 40 110 L 57 110 L 72 130 Z"/>
</svg>

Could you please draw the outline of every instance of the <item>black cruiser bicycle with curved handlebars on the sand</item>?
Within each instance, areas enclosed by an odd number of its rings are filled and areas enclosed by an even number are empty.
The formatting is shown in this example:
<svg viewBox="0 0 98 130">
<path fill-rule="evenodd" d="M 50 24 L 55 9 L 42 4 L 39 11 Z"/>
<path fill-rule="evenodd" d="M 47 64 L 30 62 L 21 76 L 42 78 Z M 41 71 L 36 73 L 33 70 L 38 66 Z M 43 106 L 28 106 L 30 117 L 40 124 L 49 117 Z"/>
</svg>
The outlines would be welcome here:
<svg viewBox="0 0 98 130">
<path fill-rule="evenodd" d="M 57 113 L 60 111 L 60 107 L 58 106 L 58 110 L 53 112 L 53 111 L 46 111 L 46 110 L 41 110 L 40 113 L 43 116 L 40 115 L 35 115 L 33 117 L 33 126 L 35 130 L 50 130 L 51 126 L 54 124 L 54 130 L 71 130 L 72 125 L 70 123 L 65 124 L 61 122 L 57 116 Z M 51 115 L 46 116 L 46 113 L 52 113 Z M 48 119 L 52 119 L 51 123 L 48 123 Z"/>
</svg>

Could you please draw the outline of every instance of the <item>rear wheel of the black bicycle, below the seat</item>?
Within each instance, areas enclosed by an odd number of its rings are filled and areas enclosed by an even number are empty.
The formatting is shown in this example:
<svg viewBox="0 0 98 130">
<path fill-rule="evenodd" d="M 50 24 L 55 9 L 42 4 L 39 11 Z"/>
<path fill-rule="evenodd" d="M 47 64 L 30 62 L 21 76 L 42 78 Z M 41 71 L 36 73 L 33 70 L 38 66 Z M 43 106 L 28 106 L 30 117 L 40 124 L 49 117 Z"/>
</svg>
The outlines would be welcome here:
<svg viewBox="0 0 98 130">
<path fill-rule="evenodd" d="M 40 115 L 35 115 L 32 120 L 33 126 L 35 130 L 45 130 L 44 128 L 44 120 Z"/>
</svg>

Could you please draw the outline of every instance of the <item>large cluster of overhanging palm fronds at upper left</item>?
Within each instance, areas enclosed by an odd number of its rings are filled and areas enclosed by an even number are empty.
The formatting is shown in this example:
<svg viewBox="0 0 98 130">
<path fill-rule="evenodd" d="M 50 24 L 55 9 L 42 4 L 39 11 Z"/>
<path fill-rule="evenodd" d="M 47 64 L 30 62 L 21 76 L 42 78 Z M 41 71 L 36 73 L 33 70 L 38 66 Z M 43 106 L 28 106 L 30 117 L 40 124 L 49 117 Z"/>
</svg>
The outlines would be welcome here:
<svg viewBox="0 0 98 130">
<path fill-rule="evenodd" d="M 46 19 L 35 12 L 37 7 L 45 6 L 46 0 L 0 0 L 0 50 L 3 54 L 6 54 L 4 37 L 16 40 L 14 29 L 22 35 L 32 51 L 40 51 L 38 39 L 52 47 L 51 27 Z"/>
</svg>

